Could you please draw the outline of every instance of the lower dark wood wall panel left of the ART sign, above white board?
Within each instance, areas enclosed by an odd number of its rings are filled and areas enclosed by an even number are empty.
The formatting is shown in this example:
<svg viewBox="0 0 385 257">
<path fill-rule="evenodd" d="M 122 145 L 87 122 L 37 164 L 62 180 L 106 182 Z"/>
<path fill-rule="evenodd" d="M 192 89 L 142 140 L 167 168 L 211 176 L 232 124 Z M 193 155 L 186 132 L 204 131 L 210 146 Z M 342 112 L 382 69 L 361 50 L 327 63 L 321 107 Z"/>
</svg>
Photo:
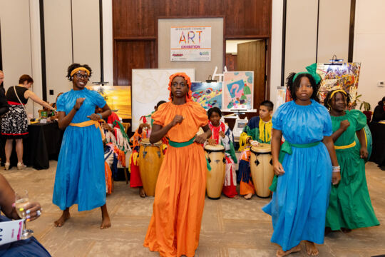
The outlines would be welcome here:
<svg viewBox="0 0 385 257">
<path fill-rule="evenodd" d="M 131 86 L 132 69 L 155 68 L 155 40 L 116 41 L 113 84 Z"/>
</svg>

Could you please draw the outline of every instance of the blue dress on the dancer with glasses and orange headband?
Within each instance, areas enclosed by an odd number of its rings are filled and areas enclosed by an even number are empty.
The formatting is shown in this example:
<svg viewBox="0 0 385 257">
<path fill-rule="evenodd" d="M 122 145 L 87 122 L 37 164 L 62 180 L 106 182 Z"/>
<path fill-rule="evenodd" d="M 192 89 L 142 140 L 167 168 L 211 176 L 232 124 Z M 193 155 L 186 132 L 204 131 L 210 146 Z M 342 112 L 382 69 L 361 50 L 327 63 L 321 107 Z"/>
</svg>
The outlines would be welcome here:
<svg viewBox="0 0 385 257">
<path fill-rule="evenodd" d="M 67 115 L 78 98 L 85 100 L 71 123 L 89 121 L 87 116 L 95 113 L 96 106 L 106 105 L 103 96 L 96 91 L 71 90 L 59 96 L 57 110 Z M 96 126 L 66 128 L 56 168 L 53 203 L 61 210 L 77 203 L 78 211 L 88 211 L 106 203 L 103 141 Z"/>
</svg>

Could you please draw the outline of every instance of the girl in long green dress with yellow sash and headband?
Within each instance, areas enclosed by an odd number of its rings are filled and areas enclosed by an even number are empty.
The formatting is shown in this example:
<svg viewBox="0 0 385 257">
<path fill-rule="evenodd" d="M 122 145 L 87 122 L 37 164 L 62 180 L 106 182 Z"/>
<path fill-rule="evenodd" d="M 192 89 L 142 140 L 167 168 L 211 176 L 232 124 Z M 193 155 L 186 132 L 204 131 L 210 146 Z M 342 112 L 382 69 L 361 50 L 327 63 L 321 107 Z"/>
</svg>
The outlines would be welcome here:
<svg viewBox="0 0 385 257">
<path fill-rule="evenodd" d="M 366 116 L 358 110 L 346 111 L 349 94 L 330 91 L 324 101 L 332 116 L 332 138 L 341 166 L 341 181 L 332 186 L 326 227 L 349 232 L 354 228 L 378 226 L 366 185 L 365 161 L 368 156 L 364 126 Z M 355 142 L 355 136 L 359 144 Z"/>
</svg>

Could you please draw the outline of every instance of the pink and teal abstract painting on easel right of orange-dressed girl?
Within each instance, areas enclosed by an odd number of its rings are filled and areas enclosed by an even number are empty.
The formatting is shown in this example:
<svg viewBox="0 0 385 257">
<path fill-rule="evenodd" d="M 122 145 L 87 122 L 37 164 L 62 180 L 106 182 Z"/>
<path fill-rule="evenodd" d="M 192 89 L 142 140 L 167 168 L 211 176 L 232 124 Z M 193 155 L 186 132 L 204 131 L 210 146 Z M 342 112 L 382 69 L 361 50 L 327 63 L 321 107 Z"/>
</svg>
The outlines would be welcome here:
<svg viewBox="0 0 385 257">
<path fill-rule="evenodd" d="M 224 110 L 251 110 L 254 89 L 254 71 L 227 71 L 223 73 Z"/>
</svg>

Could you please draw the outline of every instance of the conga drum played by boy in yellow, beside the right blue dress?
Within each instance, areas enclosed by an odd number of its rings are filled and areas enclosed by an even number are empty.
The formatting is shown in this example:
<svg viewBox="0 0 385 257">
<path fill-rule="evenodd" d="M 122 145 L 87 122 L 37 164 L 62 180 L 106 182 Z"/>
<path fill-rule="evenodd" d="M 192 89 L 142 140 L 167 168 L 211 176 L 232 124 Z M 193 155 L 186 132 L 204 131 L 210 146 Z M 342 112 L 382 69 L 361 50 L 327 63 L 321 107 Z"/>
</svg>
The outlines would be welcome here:
<svg viewBox="0 0 385 257">
<path fill-rule="evenodd" d="M 250 171 L 255 194 L 260 198 L 270 197 L 269 186 L 274 178 L 270 144 L 260 143 L 250 149 Z"/>
</svg>

